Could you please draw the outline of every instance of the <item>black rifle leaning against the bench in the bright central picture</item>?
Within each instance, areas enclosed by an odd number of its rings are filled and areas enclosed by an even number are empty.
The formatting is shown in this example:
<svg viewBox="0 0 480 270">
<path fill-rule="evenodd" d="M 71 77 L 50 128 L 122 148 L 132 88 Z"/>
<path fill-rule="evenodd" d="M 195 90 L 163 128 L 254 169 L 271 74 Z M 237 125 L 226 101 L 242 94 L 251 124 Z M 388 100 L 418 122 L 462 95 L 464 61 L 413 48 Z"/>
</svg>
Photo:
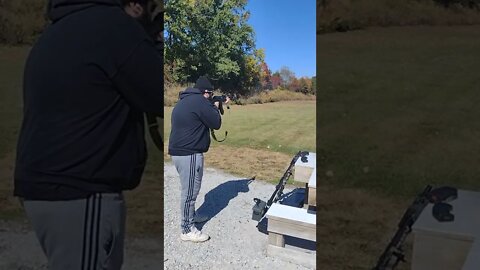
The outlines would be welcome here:
<svg viewBox="0 0 480 270">
<path fill-rule="evenodd" d="M 292 176 L 293 172 L 293 166 L 295 166 L 295 163 L 299 158 L 301 158 L 302 162 L 307 162 L 307 156 L 308 152 L 306 151 L 299 151 L 292 159 L 290 162 L 290 165 L 288 166 L 287 170 L 283 174 L 282 178 L 280 178 L 280 181 L 278 182 L 277 186 L 275 187 L 275 191 L 273 192 L 272 196 L 270 196 L 270 199 L 267 202 L 264 202 L 260 200 L 259 198 L 253 199 L 255 202 L 255 205 L 253 206 L 252 210 L 252 219 L 256 220 L 260 223 L 260 221 L 263 219 L 265 214 L 267 213 L 268 209 L 270 206 L 272 206 L 273 203 L 277 202 L 280 200 L 280 198 L 283 196 L 283 189 L 285 188 L 285 185 L 287 184 L 288 179 L 290 176 Z M 257 225 L 258 228 L 258 225 Z"/>
</svg>

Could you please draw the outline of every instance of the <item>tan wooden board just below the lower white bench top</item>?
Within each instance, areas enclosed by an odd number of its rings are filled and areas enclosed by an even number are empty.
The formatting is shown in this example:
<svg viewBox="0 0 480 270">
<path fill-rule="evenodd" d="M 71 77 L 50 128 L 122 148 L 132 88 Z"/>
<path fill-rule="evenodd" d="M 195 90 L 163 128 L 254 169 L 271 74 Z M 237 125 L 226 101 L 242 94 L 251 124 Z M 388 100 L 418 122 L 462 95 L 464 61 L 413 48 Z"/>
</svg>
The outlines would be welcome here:
<svg viewBox="0 0 480 270">
<path fill-rule="evenodd" d="M 315 227 L 302 226 L 300 223 L 283 222 L 281 220 L 268 219 L 268 232 L 289 235 L 310 241 L 317 241 L 317 232 Z"/>
</svg>

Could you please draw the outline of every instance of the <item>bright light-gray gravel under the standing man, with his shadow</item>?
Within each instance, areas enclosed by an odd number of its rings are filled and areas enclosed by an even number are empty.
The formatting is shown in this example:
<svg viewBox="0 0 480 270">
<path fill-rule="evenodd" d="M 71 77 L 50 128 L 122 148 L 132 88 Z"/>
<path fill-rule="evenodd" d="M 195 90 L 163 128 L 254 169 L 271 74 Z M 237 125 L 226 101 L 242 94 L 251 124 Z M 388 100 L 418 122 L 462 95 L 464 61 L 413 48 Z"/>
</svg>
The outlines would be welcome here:
<svg viewBox="0 0 480 270">
<path fill-rule="evenodd" d="M 211 217 L 197 226 L 211 239 L 182 242 L 179 178 L 171 164 L 164 168 L 165 269 L 308 269 L 266 256 L 268 237 L 251 219 L 253 198 L 268 199 L 275 186 L 260 181 L 248 184 L 248 179 L 216 169 L 205 169 L 196 205 L 198 213 Z"/>
</svg>

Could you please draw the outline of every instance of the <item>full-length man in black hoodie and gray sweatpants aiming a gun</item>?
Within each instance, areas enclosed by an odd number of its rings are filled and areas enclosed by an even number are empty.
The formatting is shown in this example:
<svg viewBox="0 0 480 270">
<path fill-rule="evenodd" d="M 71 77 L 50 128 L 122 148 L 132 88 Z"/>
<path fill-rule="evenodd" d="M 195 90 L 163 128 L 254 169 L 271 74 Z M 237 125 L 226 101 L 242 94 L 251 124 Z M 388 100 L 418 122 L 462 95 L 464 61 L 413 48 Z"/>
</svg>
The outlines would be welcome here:
<svg viewBox="0 0 480 270">
<path fill-rule="evenodd" d="M 180 93 L 172 111 L 168 153 L 180 175 L 183 241 L 204 242 L 210 238 L 195 227 L 194 218 L 203 177 L 203 153 L 210 147 L 209 131 L 219 129 L 222 124 L 218 102 L 209 101 L 212 95 L 213 85 L 206 77 L 200 77 L 193 88 Z"/>
</svg>

